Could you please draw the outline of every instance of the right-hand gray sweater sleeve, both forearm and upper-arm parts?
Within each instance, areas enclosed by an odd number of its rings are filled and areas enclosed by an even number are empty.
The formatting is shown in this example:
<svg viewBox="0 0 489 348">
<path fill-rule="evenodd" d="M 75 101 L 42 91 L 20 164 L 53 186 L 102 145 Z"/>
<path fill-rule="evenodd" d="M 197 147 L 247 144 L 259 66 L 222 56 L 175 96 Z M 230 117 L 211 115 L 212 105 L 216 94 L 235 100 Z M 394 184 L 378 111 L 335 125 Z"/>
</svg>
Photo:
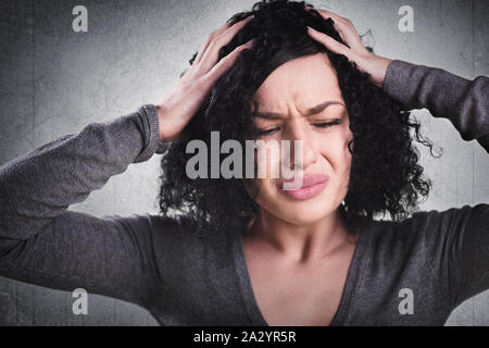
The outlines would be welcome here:
<svg viewBox="0 0 489 348">
<path fill-rule="evenodd" d="M 477 139 L 489 152 L 488 77 L 468 80 L 393 60 L 384 90 L 408 110 L 427 108 L 432 116 L 449 119 L 464 140 Z M 489 204 L 419 214 L 437 217 L 426 231 L 425 247 L 435 276 L 447 281 L 453 308 L 489 289 Z"/>
</svg>

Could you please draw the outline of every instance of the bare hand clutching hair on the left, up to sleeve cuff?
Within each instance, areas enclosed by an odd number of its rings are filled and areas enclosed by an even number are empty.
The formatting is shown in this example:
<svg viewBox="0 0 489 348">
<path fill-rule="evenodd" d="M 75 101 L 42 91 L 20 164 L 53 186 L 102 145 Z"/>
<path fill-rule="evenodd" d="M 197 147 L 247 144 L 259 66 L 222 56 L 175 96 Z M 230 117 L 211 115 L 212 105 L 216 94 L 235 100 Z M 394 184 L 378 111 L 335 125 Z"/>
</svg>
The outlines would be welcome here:
<svg viewBox="0 0 489 348">
<path fill-rule="evenodd" d="M 226 23 L 214 30 L 196 57 L 193 64 L 156 105 L 160 122 L 160 141 L 170 141 L 179 137 L 181 130 L 197 113 L 215 82 L 236 62 L 239 53 L 251 48 L 253 40 L 238 46 L 233 52 L 217 62 L 221 48 L 253 16 L 230 26 Z"/>
</svg>

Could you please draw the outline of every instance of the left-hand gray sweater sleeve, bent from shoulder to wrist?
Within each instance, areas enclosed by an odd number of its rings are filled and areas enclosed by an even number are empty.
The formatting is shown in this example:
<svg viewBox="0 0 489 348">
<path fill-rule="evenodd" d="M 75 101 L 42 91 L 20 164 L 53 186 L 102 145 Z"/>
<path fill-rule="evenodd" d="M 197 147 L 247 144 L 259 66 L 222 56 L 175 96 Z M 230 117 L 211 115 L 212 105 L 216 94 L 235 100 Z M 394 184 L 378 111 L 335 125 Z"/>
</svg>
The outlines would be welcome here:
<svg viewBox="0 0 489 348">
<path fill-rule="evenodd" d="M 164 151 L 148 104 L 0 166 L 0 275 L 147 307 L 158 282 L 148 216 L 99 219 L 67 208 Z"/>
</svg>

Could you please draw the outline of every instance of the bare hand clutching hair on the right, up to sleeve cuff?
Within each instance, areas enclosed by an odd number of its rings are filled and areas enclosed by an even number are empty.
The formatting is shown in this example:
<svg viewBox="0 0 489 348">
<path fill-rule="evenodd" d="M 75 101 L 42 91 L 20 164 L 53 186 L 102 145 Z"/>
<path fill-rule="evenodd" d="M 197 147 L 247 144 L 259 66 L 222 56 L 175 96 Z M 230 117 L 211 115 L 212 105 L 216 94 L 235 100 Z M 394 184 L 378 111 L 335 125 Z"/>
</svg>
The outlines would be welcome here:
<svg viewBox="0 0 489 348">
<path fill-rule="evenodd" d="M 305 9 L 311 10 L 312 8 L 306 7 Z M 343 54 L 349 61 L 355 62 L 360 71 L 371 75 L 371 82 L 374 85 L 383 87 L 387 67 L 391 60 L 368 52 L 365 46 L 363 46 L 359 34 L 356 34 L 355 27 L 349 20 L 326 10 L 313 10 L 317 11 L 325 20 L 330 17 L 335 22 L 335 29 L 339 33 L 343 42 L 350 46 L 350 48 L 311 27 L 308 27 L 309 35 L 316 41 L 323 44 L 331 52 Z"/>
</svg>

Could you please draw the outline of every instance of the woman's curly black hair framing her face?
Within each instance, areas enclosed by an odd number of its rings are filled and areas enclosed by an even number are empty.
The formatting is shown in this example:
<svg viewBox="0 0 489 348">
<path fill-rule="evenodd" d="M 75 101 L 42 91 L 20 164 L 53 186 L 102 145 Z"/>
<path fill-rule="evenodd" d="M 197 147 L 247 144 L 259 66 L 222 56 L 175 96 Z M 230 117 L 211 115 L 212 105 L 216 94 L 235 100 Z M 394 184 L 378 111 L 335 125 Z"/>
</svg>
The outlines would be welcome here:
<svg viewBox="0 0 489 348">
<path fill-rule="evenodd" d="M 184 214 L 201 226 L 243 231 L 250 217 L 259 212 L 254 200 L 258 192 L 250 197 L 240 178 L 189 178 L 185 169 L 192 154 L 186 153 L 186 146 L 192 139 L 200 139 L 210 148 L 212 130 L 220 132 L 221 141 L 236 139 L 244 144 L 255 134 L 254 111 L 249 105 L 266 77 L 287 61 L 318 52 L 327 53 L 338 73 L 353 134 L 348 145 L 352 153 L 349 190 L 344 206 L 339 208 L 344 221 L 360 226 L 375 214 L 386 212 L 394 221 L 403 220 L 418 209 L 419 196 L 428 196 L 431 182 L 423 178 L 419 152 L 413 139 L 429 147 L 431 156 L 432 144 L 421 136 L 419 124 L 412 120 L 411 113 L 402 111 L 399 102 L 373 85 L 368 74 L 308 35 L 306 26 L 311 26 L 343 44 L 334 22 L 324 20 L 314 10 L 304 10 L 305 5 L 312 7 L 304 1 L 264 0 L 255 3 L 250 12 L 235 14 L 229 20 L 234 24 L 254 14 L 221 49 L 220 59 L 252 38 L 255 42 L 215 83 L 181 138 L 172 142 L 163 157 L 159 196 L 162 215 Z M 190 64 L 196 57 L 197 53 Z"/>
</svg>

